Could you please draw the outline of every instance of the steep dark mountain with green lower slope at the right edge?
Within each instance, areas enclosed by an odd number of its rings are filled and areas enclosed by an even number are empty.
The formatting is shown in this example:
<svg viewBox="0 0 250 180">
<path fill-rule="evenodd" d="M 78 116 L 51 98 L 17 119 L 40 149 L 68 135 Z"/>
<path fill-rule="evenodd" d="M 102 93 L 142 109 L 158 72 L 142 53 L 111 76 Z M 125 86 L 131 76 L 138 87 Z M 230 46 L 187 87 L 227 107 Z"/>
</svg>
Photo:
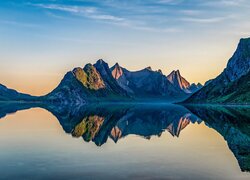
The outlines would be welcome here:
<svg viewBox="0 0 250 180">
<path fill-rule="evenodd" d="M 227 67 L 184 103 L 250 103 L 250 38 L 241 39 Z"/>
</svg>

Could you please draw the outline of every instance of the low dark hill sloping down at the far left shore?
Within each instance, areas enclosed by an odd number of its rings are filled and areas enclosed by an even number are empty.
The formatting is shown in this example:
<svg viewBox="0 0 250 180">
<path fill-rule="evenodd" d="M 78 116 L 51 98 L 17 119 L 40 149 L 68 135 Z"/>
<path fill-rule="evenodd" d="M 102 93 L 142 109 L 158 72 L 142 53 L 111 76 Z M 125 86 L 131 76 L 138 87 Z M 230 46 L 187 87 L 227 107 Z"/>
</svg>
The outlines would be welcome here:
<svg viewBox="0 0 250 180">
<path fill-rule="evenodd" d="M 0 84 L 0 101 L 33 101 L 36 99 L 37 97 L 19 93 Z"/>
</svg>

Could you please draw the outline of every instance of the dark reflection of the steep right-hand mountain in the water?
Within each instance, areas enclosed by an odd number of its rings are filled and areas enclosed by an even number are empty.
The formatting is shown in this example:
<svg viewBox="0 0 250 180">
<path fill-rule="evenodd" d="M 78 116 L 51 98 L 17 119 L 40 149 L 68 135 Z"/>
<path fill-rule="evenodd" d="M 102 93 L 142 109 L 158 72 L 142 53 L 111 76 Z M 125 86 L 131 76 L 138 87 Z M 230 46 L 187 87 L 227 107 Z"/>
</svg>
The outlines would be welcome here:
<svg viewBox="0 0 250 180">
<path fill-rule="evenodd" d="M 235 106 L 187 106 L 227 141 L 242 171 L 250 171 L 250 108 Z"/>
</svg>

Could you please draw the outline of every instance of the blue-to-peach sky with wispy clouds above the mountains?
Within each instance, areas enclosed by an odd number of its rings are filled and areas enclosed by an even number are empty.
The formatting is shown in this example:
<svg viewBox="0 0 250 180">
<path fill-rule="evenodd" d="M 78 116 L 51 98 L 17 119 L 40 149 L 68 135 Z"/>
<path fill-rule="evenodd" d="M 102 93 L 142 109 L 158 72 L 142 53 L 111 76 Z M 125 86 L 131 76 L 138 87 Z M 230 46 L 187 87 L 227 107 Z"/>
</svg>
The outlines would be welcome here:
<svg viewBox="0 0 250 180">
<path fill-rule="evenodd" d="M 104 59 L 205 83 L 250 37 L 248 0 L 1 0 L 0 83 L 32 95 Z"/>
</svg>

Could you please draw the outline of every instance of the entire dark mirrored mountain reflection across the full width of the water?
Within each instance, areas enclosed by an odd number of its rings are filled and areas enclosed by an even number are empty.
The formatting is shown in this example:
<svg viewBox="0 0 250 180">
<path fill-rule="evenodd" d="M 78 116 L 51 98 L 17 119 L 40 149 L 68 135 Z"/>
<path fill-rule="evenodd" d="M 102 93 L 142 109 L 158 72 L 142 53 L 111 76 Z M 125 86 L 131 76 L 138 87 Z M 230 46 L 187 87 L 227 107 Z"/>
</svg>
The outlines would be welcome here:
<svg viewBox="0 0 250 180">
<path fill-rule="evenodd" d="M 0 104 L 0 118 L 32 107 L 50 111 L 64 131 L 73 137 L 102 146 L 128 135 L 145 139 L 168 131 L 179 137 L 190 123 L 215 129 L 228 143 L 242 171 L 250 171 L 250 108 L 179 105 L 91 105 L 58 107 L 44 104 Z"/>
</svg>

